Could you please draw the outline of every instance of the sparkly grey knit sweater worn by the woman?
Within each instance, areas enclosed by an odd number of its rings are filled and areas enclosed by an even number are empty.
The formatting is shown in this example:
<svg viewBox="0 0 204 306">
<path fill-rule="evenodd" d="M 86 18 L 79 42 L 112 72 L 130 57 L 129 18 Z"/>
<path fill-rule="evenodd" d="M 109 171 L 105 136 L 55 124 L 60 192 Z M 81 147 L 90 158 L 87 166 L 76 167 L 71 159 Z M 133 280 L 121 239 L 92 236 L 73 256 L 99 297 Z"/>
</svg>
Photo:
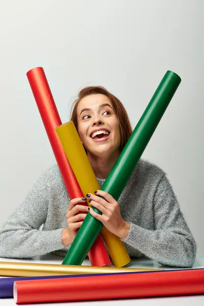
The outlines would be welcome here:
<svg viewBox="0 0 204 306">
<path fill-rule="evenodd" d="M 86 175 L 86 174 L 85 174 Z M 97 179 L 103 185 L 104 179 Z M 67 227 L 69 197 L 57 165 L 35 182 L 0 230 L 0 257 L 32 258 L 49 252 L 65 256 L 61 232 Z M 118 204 L 130 231 L 122 239 L 131 257 L 162 265 L 192 267 L 196 243 L 167 179 L 158 166 L 140 160 Z"/>
</svg>

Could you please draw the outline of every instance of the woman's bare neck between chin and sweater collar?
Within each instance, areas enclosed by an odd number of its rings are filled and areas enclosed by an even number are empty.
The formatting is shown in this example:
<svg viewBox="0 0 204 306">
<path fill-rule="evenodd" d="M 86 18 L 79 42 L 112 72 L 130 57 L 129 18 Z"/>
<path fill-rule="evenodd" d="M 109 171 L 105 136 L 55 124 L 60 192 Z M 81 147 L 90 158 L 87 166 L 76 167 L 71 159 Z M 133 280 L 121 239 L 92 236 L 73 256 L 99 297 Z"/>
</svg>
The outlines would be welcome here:
<svg viewBox="0 0 204 306">
<path fill-rule="evenodd" d="M 93 156 L 89 153 L 87 154 L 90 164 L 95 173 L 95 176 L 98 177 L 98 179 L 107 178 L 115 162 L 117 161 L 119 155 L 120 155 L 120 152 L 118 151 L 114 152 L 112 156 L 109 156 L 106 158 Z"/>
</svg>

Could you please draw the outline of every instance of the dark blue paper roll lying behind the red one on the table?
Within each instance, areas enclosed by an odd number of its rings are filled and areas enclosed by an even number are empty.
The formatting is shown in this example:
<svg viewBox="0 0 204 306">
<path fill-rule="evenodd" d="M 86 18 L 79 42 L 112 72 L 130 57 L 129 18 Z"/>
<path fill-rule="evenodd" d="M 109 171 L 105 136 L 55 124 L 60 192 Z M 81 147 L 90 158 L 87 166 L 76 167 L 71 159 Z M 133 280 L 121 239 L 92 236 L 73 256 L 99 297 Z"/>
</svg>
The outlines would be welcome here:
<svg viewBox="0 0 204 306">
<path fill-rule="evenodd" d="M 139 273 L 139 272 L 124 272 L 126 273 Z M 124 274 L 123 273 L 123 274 Z M 146 273 L 145 271 L 142 273 Z M 108 273 L 113 275 L 114 273 Z M 117 273 L 120 274 L 120 273 Z M 56 279 L 56 278 L 68 278 L 68 277 L 84 277 L 84 276 L 96 276 L 98 274 L 71 274 L 71 275 L 50 275 L 50 276 L 28 276 L 28 277 L 4 277 L 0 278 L 0 298 L 13 297 L 13 284 L 16 281 L 34 281 L 34 279 Z M 101 273 L 100 275 L 105 275 Z M 27 285 L 30 285 L 27 282 Z"/>
</svg>

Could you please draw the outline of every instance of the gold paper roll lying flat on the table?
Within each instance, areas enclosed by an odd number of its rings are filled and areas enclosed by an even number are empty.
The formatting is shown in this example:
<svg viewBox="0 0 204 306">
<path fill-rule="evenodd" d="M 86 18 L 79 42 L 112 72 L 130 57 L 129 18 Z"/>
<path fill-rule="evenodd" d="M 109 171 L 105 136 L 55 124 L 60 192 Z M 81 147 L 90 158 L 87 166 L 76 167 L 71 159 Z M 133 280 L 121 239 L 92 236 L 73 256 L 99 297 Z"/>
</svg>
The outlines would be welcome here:
<svg viewBox="0 0 204 306">
<path fill-rule="evenodd" d="M 1 276 L 47 276 L 68 274 L 123 273 L 160 271 L 161 269 L 114 268 L 94 266 L 69 266 L 59 264 L 35 264 L 19 262 L 0 262 Z"/>
</svg>

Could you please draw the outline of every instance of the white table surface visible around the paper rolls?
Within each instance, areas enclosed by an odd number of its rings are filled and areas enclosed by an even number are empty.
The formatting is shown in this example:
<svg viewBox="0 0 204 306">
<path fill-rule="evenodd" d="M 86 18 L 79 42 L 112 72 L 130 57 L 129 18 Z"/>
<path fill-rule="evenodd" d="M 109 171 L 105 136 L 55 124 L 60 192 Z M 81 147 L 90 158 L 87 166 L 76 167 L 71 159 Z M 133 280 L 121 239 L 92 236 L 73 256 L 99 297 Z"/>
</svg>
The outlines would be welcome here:
<svg viewBox="0 0 204 306">
<path fill-rule="evenodd" d="M 43 263 L 43 264 L 61 264 L 63 261 L 62 257 L 55 256 L 54 254 L 48 254 L 46 256 L 36 257 L 32 260 L 15 260 L 15 259 L 8 259 L 8 258 L 0 258 L 0 261 L 6 262 L 29 262 L 29 263 Z M 83 262 L 84 266 L 90 266 L 90 262 L 86 259 Z M 128 267 L 134 268 L 159 268 L 159 269 L 175 269 L 170 267 L 163 267 L 158 263 L 148 260 L 148 259 L 132 259 L 131 263 Z M 204 268 L 204 259 L 196 259 L 193 268 Z M 3 276 L 0 276 L 3 277 Z M 204 305 L 204 294 L 202 295 L 191 295 L 191 296 L 171 296 L 171 297 L 153 297 L 153 298 L 131 298 L 131 299 L 118 299 L 118 300 L 103 300 L 103 301 L 80 301 L 80 302 L 59 302 L 59 303 L 35 303 L 35 304 L 23 304 L 26 305 L 33 305 L 33 306 L 64 306 L 69 304 L 70 306 L 122 306 L 127 305 L 130 306 L 137 305 L 137 306 L 192 306 L 192 304 Z M 16 303 L 14 302 L 13 298 L 0 298 L 0 306 L 14 306 Z"/>
</svg>

